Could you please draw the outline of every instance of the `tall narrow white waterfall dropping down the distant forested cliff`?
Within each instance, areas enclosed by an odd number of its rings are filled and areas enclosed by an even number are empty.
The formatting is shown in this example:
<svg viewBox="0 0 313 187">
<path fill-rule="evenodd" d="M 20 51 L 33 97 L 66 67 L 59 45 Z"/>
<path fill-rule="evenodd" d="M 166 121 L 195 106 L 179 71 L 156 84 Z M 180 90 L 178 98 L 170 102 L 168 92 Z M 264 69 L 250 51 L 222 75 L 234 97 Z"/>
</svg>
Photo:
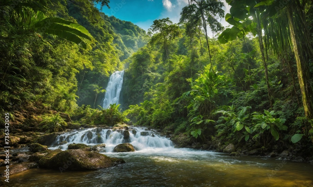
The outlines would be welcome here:
<svg viewBox="0 0 313 187">
<path fill-rule="evenodd" d="M 123 84 L 123 71 L 114 72 L 109 79 L 108 86 L 106 87 L 105 96 L 102 102 L 102 108 L 109 108 L 110 104 L 119 103 L 120 92 Z"/>
</svg>

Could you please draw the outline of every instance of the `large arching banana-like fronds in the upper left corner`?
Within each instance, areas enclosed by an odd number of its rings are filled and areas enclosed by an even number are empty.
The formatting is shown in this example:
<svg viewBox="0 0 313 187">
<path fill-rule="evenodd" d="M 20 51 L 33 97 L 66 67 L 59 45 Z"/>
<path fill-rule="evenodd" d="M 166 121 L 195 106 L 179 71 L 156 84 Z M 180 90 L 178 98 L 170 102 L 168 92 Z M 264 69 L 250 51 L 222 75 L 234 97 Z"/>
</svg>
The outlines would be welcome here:
<svg viewBox="0 0 313 187">
<path fill-rule="evenodd" d="M 12 6 L 13 5 L 13 6 Z M 80 44 L 84 49 L 87 45 L 82 38 L 90 40 L 92 36 L 80 24 L 66 21 L 59 17 L 47 17 L 47 2 L 44 0 L 24 0 L 22 2 L 4 1 L 0 10 L 7 12 L 8 18 L 17 26 L 37 33 L 47 33 Z M 6 17 L 4 17 L 6 18 Z"/>
</svg>

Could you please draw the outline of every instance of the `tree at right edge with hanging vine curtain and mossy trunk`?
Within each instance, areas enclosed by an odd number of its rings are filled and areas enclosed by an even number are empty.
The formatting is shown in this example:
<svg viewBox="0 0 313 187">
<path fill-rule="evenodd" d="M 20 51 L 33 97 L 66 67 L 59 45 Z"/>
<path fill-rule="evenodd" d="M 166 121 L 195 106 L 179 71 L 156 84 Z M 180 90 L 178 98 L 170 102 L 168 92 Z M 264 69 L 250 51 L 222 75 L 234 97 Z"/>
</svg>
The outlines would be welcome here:
<svg viewBox="0 0 313 187">
<path fill-rule="evenodd" d="M 254 7 L 263 12 L 266 48 L 282 59 L 290 59 L 289 51 L 294 51 L 305 116 L 313 119 L 312 75 L 309 68 L 313 50 L 304 10 L 309 4 L 308 1 L 281 4 L 279 1 L 262 0 Z M 277 9 L 278 6 L 280 8 Z"/>
</svg>

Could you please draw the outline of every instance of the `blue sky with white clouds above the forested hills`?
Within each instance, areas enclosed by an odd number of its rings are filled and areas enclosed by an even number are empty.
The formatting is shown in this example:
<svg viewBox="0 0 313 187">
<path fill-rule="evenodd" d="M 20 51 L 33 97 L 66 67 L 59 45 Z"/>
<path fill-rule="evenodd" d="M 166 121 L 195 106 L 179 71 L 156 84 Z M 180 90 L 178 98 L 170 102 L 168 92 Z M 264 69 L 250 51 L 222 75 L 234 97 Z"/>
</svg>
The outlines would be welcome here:
<svg viewBox="0 0 313 187">
<path fill-rule="evenodd" d="M 225 4 L 225 14 L 230 6 Z M 121 20 L 130 21 L 148 30 L 156 19 L 169 17 L 172 22 L 179 22 L 182 8 L 188 4 L 188 0 L 110 0 L 110 9 L 103 7 L 103 12 L 108 16 L 115 16 Z M 222 24 L 227 26 L 225 19 Z M 209 35 L 212 35 L 209 33 Z"/>
</svg>

